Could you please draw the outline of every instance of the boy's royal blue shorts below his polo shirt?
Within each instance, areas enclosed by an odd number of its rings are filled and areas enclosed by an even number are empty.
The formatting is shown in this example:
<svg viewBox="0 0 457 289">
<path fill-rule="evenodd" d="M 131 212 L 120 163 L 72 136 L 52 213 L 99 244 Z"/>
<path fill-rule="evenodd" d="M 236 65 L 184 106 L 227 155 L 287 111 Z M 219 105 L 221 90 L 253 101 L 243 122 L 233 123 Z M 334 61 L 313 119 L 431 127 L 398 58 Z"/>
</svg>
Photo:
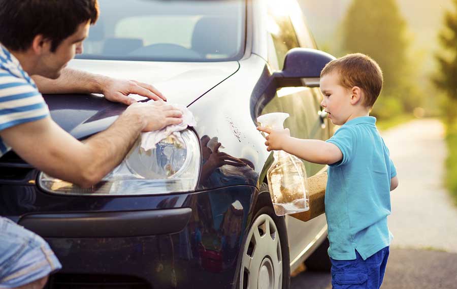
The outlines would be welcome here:
<svg viewBox="0 0 457 289">
<path fill-rule="evenodd" d="M 332 262 L 333 289 L 379 289 L 384 279 L 389 247 L 385 247 L 367 260 L 355 251 L 355 260 L 334 260 Z"/>
</svg>

